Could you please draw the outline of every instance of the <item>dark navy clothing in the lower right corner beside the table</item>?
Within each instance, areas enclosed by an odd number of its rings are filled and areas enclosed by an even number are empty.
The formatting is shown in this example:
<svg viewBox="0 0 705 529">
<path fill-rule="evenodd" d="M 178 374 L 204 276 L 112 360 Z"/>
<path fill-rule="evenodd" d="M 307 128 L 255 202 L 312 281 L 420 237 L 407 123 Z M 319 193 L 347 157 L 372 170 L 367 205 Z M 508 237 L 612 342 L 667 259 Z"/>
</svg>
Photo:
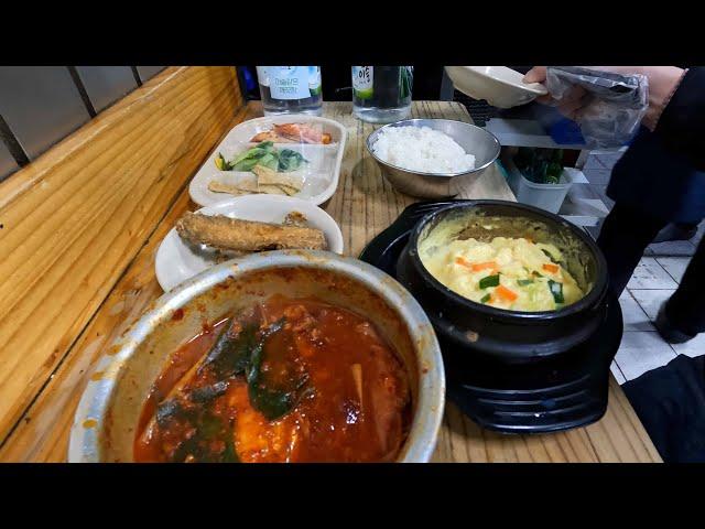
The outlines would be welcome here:
<svg viewBox="0 0 705 529">
<path fill-rule="evenodd" d="M 679 355 L 622 386 L 666 463 L 705 463 L 705 356 Z"/>
</svg>

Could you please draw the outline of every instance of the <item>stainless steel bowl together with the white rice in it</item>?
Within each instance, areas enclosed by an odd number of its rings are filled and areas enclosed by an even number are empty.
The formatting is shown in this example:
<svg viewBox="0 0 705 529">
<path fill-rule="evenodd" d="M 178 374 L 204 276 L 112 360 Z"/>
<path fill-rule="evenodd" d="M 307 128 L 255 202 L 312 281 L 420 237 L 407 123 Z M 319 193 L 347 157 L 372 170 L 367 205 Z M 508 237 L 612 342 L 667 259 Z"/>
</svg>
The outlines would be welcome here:
<svg viewBox="0 0 705 529">
<path fill-rule="evenodd" d="M 457 194 L 499 156 L 491 132 L 451 119 L 405 119 L 377 129 L 367 150 L 402 193 L 422 198 Z"/>
</svg>

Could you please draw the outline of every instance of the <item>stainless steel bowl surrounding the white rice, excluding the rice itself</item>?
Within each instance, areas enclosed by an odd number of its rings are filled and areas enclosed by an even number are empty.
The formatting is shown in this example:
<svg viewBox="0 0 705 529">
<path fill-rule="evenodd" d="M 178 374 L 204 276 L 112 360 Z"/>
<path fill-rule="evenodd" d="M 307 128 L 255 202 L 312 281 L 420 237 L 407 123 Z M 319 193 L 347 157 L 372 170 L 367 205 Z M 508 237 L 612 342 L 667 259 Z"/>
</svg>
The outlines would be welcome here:
<svg viewBox="0 0 705 529">
<path fill-rule="evenodd" d="M 453 138 L 468 154 L 475 156 L 475 168 L 462 173 L 421 173 L 392 165 L 379 159 L 372 145 L 380 131 L 388 127 L 429 127 Z M 380 127 L 367 138 L 367 150 L 379 163 L 382 174 L 402 193 L 420 198 L 447 198 L 458 194 L 457 187 L 473 182 L 499 156 L 499 140 L 487 130 L 464 121 L 452 119 L 404 119 Z"/>
</svg>

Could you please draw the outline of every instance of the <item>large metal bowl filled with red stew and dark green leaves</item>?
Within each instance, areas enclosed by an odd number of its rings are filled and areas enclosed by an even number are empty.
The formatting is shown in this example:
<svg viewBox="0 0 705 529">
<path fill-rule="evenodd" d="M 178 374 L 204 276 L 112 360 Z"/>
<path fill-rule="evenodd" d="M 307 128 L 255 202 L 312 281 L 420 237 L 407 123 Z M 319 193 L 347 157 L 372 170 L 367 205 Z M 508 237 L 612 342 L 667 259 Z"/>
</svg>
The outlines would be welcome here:
<svg viewBox="0 0 705 529">
<path fill-rule="evenodd" d="M 427 462 L 433 327 L 394 279 L 332 252 L 234 259 L 160 298 L 101 357 L 69 462 Z"/>
</svg>

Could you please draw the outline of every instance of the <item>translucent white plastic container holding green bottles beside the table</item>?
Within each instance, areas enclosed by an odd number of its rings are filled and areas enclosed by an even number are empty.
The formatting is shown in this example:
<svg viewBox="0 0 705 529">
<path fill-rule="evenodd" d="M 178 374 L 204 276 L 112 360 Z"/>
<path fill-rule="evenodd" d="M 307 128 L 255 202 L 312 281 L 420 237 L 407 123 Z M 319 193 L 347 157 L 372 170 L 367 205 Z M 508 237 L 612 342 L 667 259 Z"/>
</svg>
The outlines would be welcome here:
<svg viewBox="0 0 705 529">
<path fill-rule="evenodd" d="M 502 165 L 507 170 L 507 182 L 514 193 L 517 202 L 551 213 L 558 213 L 571 185 L 579 180 L 578 175 L 581 174 L 577 169 L 564 168 L 558 184 L 536 184 L 521 174 L 511 159 L 502 159 Z"/>
</svg>

